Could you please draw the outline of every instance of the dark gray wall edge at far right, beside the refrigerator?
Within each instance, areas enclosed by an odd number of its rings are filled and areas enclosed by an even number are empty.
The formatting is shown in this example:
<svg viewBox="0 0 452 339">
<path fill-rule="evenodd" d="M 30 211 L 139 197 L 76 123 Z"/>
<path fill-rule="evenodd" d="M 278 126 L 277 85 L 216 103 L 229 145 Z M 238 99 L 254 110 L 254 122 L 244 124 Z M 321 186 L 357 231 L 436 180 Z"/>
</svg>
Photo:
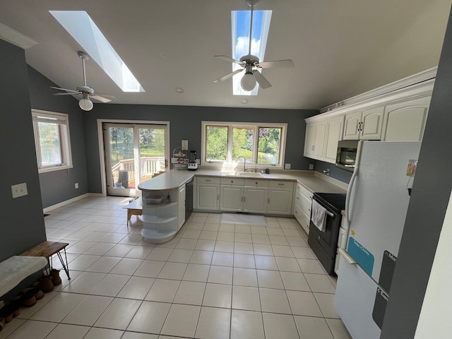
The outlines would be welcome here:
<svg viewBox="0 0 452 339">
<path fill-rule="evenodd" d="M 449 17 L 391 295 L 383 321 L 382 339 L 414 338 L 417 328 L 452 189 L 451 79 L 452 20 Z M 450 267 L 444 269 L 449 270 Z M 444 333 L 442 338 L 451 338 L 451 333 Z"/>
</svg>

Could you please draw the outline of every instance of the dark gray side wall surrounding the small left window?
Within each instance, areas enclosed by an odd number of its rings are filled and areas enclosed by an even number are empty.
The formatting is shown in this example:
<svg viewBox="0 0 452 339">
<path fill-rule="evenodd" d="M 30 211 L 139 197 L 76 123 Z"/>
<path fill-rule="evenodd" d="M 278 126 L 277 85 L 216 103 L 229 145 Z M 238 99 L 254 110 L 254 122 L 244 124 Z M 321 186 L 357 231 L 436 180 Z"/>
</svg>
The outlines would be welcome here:
<svg viewBox="0 0 452 339">
<path fill-rule="evenodd" d="M 39 174 L 42 206 L 46 208 L 88 193 L 83 113 L 72 95 L 54 95 L 59 91 L 50 86 L 57 85 L 30 66 L 28 83 L 32 108 L 69 114 L 73 168 Z M 78 189 L 75 188 L 76 182 Z"/>
</svg>

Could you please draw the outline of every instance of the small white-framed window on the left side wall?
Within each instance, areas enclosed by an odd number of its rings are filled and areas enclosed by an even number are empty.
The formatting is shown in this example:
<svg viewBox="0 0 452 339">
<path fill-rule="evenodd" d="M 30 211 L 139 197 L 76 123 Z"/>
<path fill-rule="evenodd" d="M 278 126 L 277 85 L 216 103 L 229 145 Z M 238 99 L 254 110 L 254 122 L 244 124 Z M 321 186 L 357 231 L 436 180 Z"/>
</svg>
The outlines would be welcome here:
<svg viewBox="0 0 452 339">
<path fill-rule="evenodd" d="M 32 109 L 32 120 L 39 172 L 71 168 L 68 114 Z"/>
</svg>

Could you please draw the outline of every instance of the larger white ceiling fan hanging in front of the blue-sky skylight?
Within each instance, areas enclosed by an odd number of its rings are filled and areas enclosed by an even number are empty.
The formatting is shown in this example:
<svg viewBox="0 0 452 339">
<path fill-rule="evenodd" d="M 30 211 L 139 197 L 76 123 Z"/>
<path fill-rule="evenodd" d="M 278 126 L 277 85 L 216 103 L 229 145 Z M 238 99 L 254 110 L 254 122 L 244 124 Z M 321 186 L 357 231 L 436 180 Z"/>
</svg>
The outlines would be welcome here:
<svg viewBox="0 0 452 339">
<path fill-rule="evenodd" d="M 215 81 L 213 81 L 214 83 L 225 81 L 228 78 L 232 78 L 232 76 L 236 75 L 237 73 L 245 71 L 245 74 L 242 77 L 242 81 L 240 81 L 240 85 L 242 86 L 243 90 L 245 90 L 246 92 L 254 90 L 254 88 L 256 87 L 256 82 L 261 86 L 261 88 L 265 89 L 271 87 L 271 83 L 262 75 L 261 72 L 258 71 L 258 69 L 270 69 L 277 67 L 292 69 L 295 67 L 294 62 L 290 59 L 260 62 L 258 57 L 256 57 L 255 55 L 251 55 L 251 36 L 252 36 L 251 33 L 253 30 L 253 11 L 254 5 L 257 2 L 258 0 L 246 0 L 246 3 L 249 4 L 249 6 L 251 6 L 251 23 L 249 25 L 248 54 L 241 57 L 240 60 L 232 59 L 225 55 L 215 55 L 215 57 L 218 57 L 220 59 L 233 62 L 234 64 L 239 64 L 242 67 L 242 69 L 237 69 L 232 73 L 226 74 L 225 76 L 222 76 L 221 78 L 218 78 Z"/>
</svg>

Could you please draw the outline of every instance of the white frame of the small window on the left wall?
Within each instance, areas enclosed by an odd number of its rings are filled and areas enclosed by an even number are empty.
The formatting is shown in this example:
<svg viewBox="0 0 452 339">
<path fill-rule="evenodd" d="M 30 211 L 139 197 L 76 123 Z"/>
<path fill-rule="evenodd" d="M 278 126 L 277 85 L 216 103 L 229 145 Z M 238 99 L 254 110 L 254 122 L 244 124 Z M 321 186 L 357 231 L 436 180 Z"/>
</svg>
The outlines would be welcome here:
<svg viewBox="0 0 452 339">
<path fill-rule="evenodd" d="M 49 112 L 41 109 L 32 109 L 32 124 L 35 136 L 36 160 L 38 173 L 59 171 L 61 169 L 73 168 L 71 136 L 69 134 L 69 114 Z M 42 153 L 39 133 L 39 122 L 54 123 L 59 125 L 59 138 L 61 148 L 61 164 L 42 165 Z"/>
</svg>

